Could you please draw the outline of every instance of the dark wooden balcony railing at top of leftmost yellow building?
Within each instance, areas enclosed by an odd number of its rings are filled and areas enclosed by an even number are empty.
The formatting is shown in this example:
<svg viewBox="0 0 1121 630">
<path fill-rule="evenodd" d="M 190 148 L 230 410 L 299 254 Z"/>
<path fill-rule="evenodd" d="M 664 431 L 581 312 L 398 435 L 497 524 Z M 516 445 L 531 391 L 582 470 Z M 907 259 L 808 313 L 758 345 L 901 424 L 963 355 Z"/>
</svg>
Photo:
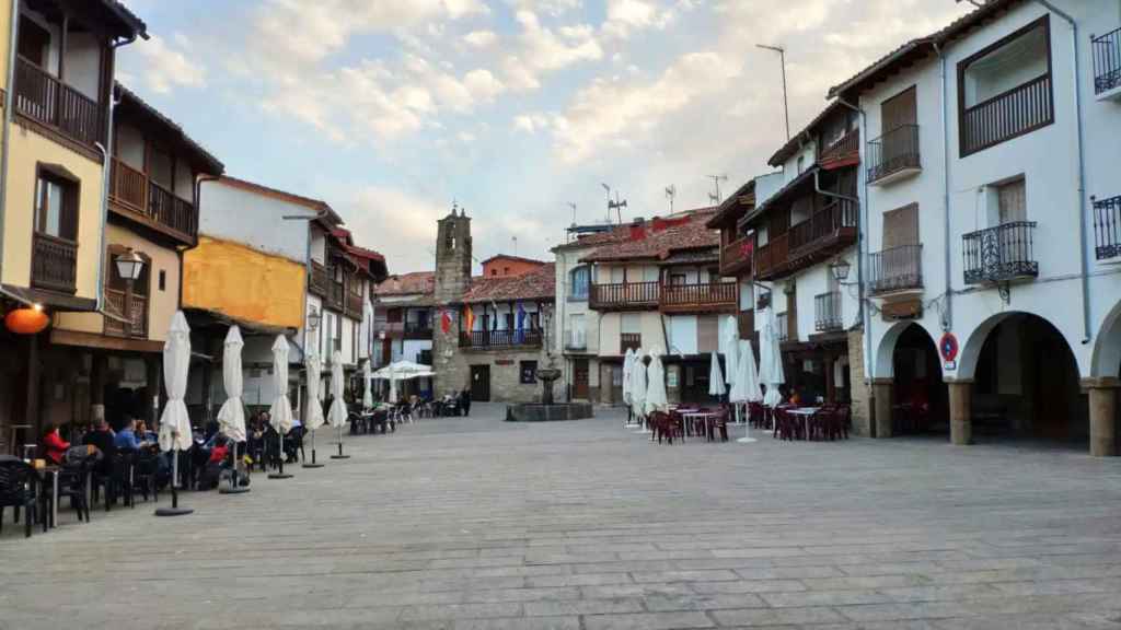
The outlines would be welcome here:
<svg viewBox="0 0 1121 630">
<path fill-rule="evenodd" d="M 16 62 L 16 111 L 90 148 L 101 141 L 105 127 L 96 101 L 22 57 Z"/>
</svg>

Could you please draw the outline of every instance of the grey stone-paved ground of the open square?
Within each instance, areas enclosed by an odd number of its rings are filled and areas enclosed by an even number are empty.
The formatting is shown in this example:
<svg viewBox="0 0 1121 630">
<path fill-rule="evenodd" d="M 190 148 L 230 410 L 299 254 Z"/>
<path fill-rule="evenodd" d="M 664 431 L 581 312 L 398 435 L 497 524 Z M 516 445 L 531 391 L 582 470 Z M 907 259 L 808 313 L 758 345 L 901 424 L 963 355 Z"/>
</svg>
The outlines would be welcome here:
<svg viewBox="0 0 1121 630">
<path fill-rule="evenodd" d="M 178 519 L 9 511 L 0 629 L 1121 628 L 1121 461 L 476 409 Z"/>
</svg>

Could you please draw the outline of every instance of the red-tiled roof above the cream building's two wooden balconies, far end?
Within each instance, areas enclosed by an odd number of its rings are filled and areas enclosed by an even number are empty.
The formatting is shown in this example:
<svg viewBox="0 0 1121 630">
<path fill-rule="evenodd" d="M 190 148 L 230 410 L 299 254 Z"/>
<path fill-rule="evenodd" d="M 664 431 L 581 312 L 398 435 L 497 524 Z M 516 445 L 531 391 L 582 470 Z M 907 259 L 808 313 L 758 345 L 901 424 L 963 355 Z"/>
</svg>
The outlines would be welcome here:
<svg viewBox="0 0 1121 630">
<path fill-rule="evenodd" d="M 720 247 L 720 234 L 706 223 L 716 214 L 716 207 L 689 211 L 685 216 L 655 217 L 643 223 L 632 223 L 629 238 L 603 245 L 581 260 L 610 262 L 623 260 L 665 260 L 684 250 Z"/>
</svg>

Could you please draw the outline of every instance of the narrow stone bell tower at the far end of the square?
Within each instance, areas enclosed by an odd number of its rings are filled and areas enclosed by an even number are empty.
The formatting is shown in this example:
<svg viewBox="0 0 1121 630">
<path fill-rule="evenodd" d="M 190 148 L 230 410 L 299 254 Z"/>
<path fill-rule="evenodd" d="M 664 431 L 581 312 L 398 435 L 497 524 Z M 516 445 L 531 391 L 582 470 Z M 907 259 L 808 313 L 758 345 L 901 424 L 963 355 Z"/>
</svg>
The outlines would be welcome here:
<svg viewBox="0 0 1121 630">
<path fill-rule="evenodd" d="M 435 325 L 433 331 L 433 368 L 436 372 L 435 393 L 455 393 L 469 387 L 470 370 L 460 354 L 460 307 L 463 294 L 471 287 L 471 219 L 466 212 L 452 207 L 452 213 L 437 222 Z M 451 325 L 444 332 L 445 316 Z"/>
</svg>

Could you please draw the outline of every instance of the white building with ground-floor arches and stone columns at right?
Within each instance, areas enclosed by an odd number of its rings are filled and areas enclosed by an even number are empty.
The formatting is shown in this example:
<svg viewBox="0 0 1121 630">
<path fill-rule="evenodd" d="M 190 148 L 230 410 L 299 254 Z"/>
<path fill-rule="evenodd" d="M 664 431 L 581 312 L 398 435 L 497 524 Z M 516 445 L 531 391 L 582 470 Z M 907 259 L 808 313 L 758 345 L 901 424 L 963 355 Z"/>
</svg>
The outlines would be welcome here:
<svg viewBox="0 0 1121 630">
<path fill-rule="evenodd" d="M 877 435 L 1115 453 L 1119 26 L 1114 0 L 991 0 L 831 91 L 868 139 Z"/>
</svg>

